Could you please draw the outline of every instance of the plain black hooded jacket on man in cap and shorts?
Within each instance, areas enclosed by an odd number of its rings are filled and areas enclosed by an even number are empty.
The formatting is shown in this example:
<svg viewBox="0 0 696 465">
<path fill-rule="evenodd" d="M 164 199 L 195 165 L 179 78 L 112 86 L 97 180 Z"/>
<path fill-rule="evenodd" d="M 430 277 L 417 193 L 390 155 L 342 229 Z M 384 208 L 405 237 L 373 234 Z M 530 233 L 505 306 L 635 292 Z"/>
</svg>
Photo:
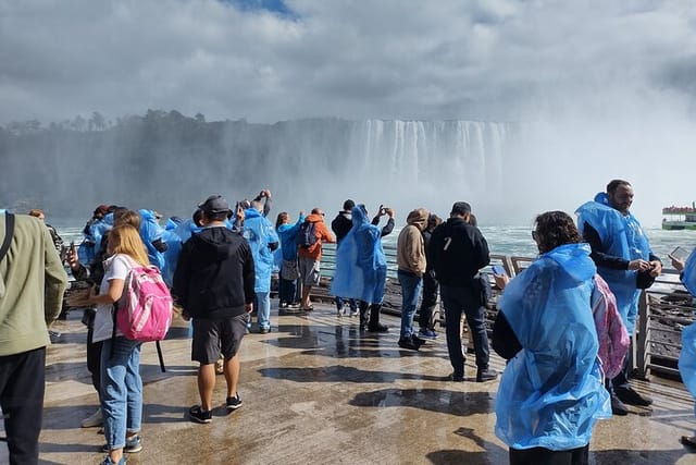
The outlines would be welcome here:
<svg viewBox="0 0 696 465">
<path fill-rule="evenodd" d="M 244 314 L 256 297 L 249 244 L 224 227 L 206 228 L 184 243 L 174 272 L 174 294 L 192 318 L 229 318 Z"/>
</svg>

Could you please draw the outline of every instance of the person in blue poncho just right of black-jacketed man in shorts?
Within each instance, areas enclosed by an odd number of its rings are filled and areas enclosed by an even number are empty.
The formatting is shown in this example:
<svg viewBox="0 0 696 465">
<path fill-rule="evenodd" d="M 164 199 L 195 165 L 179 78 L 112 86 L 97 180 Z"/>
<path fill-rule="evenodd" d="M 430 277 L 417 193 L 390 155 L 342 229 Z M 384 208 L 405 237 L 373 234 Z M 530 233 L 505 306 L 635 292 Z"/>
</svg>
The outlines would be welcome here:
<svg viewBox="0 0 696 465">
<path fill-rule="evenodd" d="M 262 210 L 262 206 L 260 210 Z M 256 208 L 245 210 L 244 231 L 253 255 L 256 271 L 256 308 L 259 332 L 271 331 L 271 272 L 273 270 L 273 250 L 278 247 L 279 238 L 273 224 Z"/>
</svg>

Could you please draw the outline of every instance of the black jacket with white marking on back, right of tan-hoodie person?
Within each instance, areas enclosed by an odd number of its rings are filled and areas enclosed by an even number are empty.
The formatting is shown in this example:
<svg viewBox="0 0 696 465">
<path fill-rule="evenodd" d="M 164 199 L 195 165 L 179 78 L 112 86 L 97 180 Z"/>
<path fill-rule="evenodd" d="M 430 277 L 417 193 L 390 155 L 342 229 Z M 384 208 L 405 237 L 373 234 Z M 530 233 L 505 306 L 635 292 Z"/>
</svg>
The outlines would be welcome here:
<svg viewBox="0 0 696 465">
<path fill-rule="evenodd" d="M 488 244 L 478 231 L 461 218 L 449 218 L 433 231 L 428 257 L 442 285 L 469 287 L 472 278 L 490 262 Z"/>
</svg>

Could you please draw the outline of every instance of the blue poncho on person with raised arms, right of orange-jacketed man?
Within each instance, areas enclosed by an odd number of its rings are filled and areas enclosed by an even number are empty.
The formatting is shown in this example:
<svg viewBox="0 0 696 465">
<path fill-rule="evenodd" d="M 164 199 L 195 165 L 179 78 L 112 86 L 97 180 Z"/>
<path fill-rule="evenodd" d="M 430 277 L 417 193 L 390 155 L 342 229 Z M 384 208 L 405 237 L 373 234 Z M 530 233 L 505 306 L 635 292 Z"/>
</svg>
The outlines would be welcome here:
<svg viewBox="0 0 696 465">
<path fill-rule="evenodd" d="M 382 231 L 372 225 L 359 205 L 352 209 L 352 228 L 336 249 L 334 295 L 381 304 L 387 278 L 387 260 L 382 248 Z"/>
</svg>

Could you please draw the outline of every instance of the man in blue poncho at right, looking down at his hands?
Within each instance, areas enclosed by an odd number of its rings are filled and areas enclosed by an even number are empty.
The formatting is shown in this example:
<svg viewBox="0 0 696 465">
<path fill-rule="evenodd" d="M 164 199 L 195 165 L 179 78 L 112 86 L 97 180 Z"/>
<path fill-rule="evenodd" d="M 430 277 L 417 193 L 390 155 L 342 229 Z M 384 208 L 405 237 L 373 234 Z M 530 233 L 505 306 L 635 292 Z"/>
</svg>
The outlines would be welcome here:
<svg viewBox="0 0 696 465">
<path fill-rule="evenodd" d="M 662 262 L 650 250 L 650 243 L 638 220 L 629 209 L 633 204 L 633 187 L 627 181 L 613 180 L 606 193 L 582 205 L 577 227 L 592 247 L 592 259 L 617 297 L 619 314 L 633 335 L 638 313 L 641 289 L 651 284 L 662 271 Z M 627 362 L 627 359 L 626 359 Z M 629 366 L 607 380 L 611 406 L 616 415 L 626 415 L 624 404 L 648 406 L 652 401 L 639 394 L 629 383 Z"/>
</svg>

